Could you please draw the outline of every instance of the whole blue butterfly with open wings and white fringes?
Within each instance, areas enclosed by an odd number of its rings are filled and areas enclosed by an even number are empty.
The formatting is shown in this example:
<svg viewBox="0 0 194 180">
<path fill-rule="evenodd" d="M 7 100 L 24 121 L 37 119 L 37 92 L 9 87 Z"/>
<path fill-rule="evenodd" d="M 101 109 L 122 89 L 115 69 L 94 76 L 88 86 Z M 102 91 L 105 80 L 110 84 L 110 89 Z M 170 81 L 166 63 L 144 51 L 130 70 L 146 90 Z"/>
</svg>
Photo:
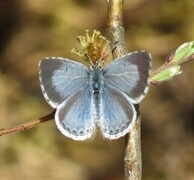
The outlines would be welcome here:
<svg viewBox="0 0 194 180">
<path fill-rule="evenodd" d="M 137 119 L 134 105 L 149 88 L 150 64 L 145 51 L 126 54 L 104 68 L 61 57 L 41 60 L 40 86 L 56 109 L 58 129 L 74 140 L 92 137 L 97 126 L 107 139 L 129 133 Z"/>
</svg>

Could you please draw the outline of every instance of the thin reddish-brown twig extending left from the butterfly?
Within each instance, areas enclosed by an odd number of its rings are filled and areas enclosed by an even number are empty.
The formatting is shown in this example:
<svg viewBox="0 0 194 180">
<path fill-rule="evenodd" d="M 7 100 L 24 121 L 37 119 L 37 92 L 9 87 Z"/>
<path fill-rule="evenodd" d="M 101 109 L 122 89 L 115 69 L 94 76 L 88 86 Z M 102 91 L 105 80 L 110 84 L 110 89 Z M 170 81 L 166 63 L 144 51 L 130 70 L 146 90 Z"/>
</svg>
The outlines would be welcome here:
<svg viewBox="0 0 194 180">
<path fill-rule="evenodd" d="M 43 116 L 41 118 L 35 119 L 35 120 L 27 122 L 27 123 L 20 124 L 16 127 L 0 129 L 0 136 L 10 134 L 13 132 L 28 130 L 34 126 L 37 126 L 40 123 L 52 120 L 54 118 L 54 114 L 55 114 L 55 110 L 46 116 Z"/>
</svg>

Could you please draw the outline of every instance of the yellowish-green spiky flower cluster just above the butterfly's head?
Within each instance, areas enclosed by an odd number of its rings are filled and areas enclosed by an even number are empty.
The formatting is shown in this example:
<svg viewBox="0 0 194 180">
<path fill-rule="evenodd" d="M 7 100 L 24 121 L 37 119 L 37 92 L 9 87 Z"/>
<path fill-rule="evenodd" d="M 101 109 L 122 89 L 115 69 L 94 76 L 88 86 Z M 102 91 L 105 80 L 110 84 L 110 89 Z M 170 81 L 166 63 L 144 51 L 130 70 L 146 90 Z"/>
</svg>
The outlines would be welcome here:
<svg viewBox="0 0 194 180">
<path fill-rule="evenodd" d="M 72 52 L 89 63 L 91 69 L 103 68 L 108 58 L 106 49 L 109 46 L 110 41 L 96 30 L 93 31 L 92 36 L 89 36 L 89 31 L 86 30 L 86 36 L 78 36 L 77 40 L 81 44 L 82 50 L 74 48 Z"/>
</svg>

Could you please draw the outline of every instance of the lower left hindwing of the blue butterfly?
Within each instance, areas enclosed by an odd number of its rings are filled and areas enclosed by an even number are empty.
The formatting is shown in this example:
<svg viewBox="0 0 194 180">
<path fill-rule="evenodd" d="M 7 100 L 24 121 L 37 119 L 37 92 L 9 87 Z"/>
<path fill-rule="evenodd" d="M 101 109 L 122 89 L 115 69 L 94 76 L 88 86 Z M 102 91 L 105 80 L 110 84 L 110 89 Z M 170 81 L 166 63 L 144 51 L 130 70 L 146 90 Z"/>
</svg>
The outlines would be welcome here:
<svg viewBox="0 0 194 180">
<path fill-rule="evenodd" d="M 56 111 L 55 121 L 58 129 L 67 137 L 74 140 L 90 138 L 94 132 L 92 91 L 89 86 L 80 89 Z"/>
</svg>

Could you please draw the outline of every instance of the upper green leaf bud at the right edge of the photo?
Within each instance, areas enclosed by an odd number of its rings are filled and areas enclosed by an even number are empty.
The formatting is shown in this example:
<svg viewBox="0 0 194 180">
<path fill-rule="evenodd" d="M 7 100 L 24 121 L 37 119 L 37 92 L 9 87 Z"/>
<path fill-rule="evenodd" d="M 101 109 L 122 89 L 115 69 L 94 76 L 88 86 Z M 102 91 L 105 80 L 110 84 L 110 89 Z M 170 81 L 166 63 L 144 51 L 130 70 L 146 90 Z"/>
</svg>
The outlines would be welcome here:
<svg viewBox="0 0 194 180">
<path fill-rule="evenodd" d="M 184 43 L 175 51 L 172 62 L 181 61 L 192 54 L 194 54 L 194 41 Z"/>
</svg>

